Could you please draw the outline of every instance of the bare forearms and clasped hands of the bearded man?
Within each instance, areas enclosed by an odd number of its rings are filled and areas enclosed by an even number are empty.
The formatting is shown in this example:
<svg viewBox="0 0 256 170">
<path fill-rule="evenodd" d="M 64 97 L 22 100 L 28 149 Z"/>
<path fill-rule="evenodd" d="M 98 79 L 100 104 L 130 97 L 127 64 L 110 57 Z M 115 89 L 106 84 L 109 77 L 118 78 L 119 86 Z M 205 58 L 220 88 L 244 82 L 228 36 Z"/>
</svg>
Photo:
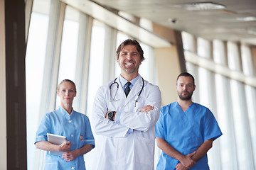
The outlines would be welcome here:
<svg viewBox="0 0 256 170">
<path fill-rule="evenodd" d="M 174 147 L 171 147 L 169 143 L 167 143 L 164 139 L 160 137 L 156 137 L 157 146 L 169 157 L 173 157 L 174 159 L 177 159 L 180 163 L 176 165 L 177 170 L 187 170 L 191 169 L 198 160 L 200 160 L 202 157 L 206 155 L 208 150 L 213 145 L 213 138 L 210 140 L 206 140 L 203 142 L 203 144 L 198 147 L 198 149 L 187 155 L 183 155 L 180 152 L 178 152 Z"/>
</svg>

